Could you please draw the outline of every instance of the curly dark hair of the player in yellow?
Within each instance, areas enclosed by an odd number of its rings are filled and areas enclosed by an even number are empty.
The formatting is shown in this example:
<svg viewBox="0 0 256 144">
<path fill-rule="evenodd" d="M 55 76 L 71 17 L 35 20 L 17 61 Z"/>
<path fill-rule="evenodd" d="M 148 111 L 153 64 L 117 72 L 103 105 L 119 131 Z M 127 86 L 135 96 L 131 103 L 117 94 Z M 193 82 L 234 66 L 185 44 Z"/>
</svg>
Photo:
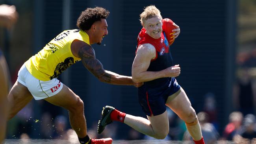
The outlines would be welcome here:
<svg viewBox="0 0 256 144">
<path fill-rule="evenodd" d="M 89 30 L 94 22 L 106 19 L 108 15 L 109 11 L 103 7 L 87 8 L 77 19 L 76 26 L 83 31 Z"/>
</svg>

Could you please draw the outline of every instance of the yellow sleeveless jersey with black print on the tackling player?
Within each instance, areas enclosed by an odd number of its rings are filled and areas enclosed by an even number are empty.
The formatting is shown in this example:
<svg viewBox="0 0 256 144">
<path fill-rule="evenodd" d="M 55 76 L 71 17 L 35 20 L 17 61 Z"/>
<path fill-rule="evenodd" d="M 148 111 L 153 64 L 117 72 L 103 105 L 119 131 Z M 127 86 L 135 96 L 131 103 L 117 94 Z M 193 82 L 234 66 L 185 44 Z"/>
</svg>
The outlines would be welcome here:
<svg viewBox="0 0 256 144">
<path fill-rule="evenodd" d="M 89 36 L 84 31 L 65 30 L 25 62 L 30 74 L 41 81 L 49 81 L 80 61 L 81 59 L 71 52 L 71 43 L 75 39 L 90 44 Z"/>
</svg>

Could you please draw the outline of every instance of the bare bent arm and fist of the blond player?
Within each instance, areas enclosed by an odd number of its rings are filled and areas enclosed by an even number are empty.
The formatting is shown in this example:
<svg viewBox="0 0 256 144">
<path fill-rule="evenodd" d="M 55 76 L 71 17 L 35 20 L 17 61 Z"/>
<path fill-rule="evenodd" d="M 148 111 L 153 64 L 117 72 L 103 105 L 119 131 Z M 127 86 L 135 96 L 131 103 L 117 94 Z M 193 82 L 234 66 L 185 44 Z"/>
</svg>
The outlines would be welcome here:
<svg viewBox="0 0 256 144">
<path fill-rule="evenodd" d="M 171 66 L 158 72 L 147 71 L 150 61 L 156 57 L 152 44 L 141 44 L 132 64 L 132 78 L 135 82 L 152 81 L 158 78 L 176 77 L 180 75 L 179 65 Z"/>
</svg>

